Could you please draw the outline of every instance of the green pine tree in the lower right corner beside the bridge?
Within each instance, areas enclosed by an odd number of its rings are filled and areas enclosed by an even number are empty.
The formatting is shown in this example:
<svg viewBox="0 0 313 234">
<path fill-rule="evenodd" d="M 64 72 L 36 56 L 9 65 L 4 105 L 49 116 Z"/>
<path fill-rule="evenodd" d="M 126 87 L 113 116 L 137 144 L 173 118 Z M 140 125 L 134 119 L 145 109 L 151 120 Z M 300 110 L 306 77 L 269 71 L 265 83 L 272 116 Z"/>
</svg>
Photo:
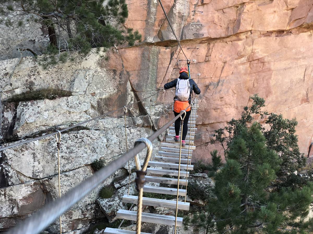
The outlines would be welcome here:
<svg viewBox="0 0 313 234">
<path fill-rule="evenodd" d="M 283 160 L 266 144 L 258 123 L 242 127 L 228 145 L 226 163 L 213 177 L 214 197 L 184 225 L 206 233 L 310 233 L 305 221 L 313 202 L 313 184 L 271 191 Z"/>
</svg>

